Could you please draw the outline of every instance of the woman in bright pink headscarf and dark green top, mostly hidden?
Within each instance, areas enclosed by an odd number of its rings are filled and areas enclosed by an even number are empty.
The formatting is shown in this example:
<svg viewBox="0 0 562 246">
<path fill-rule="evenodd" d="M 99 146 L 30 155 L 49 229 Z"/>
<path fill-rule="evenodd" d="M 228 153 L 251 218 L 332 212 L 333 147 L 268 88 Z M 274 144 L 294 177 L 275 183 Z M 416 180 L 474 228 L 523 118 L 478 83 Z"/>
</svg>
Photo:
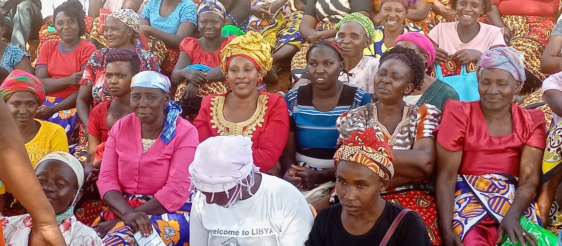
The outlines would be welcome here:
<svg viewBox="0 0 562 246">
<path fill-rule="evenodd" d="M 443 106 L 448 99 L 459 100 L 459 94 L 453 87 L 428 75 L 428 69 L 433 69 L 435 49 L 427 36 L 414 32 L 405 33 L 396 38 L 396 45 L 415 50 L 425 62 L 426 72 L 424 73 L 422 87 L 420 87 L 420 90 L 414 90 L 410 95 L 404 96 L 404 101 L 407 104 L 419 107 L 427 103 L 443 110 Z"/>
</svg>

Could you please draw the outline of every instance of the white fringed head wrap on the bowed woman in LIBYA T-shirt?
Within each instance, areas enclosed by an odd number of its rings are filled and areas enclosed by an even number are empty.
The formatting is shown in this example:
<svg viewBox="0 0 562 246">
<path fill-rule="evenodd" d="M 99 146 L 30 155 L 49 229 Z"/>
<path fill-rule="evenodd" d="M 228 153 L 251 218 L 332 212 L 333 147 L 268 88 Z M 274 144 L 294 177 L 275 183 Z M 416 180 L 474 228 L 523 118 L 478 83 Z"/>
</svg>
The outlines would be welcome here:
<svg viewBox="0 0 562 246">
<path fill-rule="evenodd" d="M 246 136 L 216 136 L 207 138 L 197 146 L 193 163 L 189 165 L 191 182 L 202 192 L 225 192 L 236 188 L 226 207 L 232 206 L 236 197 L 242 196 L 242 187 L 248 192 L 255 183 L 253 173 L 259 168 L 253 164 L 252 140 Z M 252 194 L 250 192 L 250 194 Z"/>
</svg>

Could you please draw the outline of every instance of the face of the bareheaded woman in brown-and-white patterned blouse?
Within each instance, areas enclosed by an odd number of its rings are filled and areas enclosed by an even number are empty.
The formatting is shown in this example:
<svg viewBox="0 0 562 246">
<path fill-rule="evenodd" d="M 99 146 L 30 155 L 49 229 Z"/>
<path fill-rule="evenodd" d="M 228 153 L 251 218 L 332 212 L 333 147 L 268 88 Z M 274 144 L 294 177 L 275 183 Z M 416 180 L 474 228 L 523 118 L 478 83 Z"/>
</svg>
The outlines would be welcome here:
<svg viewBox="0 0 562 246">
<path fill-rule="evenodd" d="M 395 104 L 414 89 L 410 70 L 401 61 L 389 59 L 380 64 L 375 75 L 375 94 L 383 104 Z"/>
</svg>

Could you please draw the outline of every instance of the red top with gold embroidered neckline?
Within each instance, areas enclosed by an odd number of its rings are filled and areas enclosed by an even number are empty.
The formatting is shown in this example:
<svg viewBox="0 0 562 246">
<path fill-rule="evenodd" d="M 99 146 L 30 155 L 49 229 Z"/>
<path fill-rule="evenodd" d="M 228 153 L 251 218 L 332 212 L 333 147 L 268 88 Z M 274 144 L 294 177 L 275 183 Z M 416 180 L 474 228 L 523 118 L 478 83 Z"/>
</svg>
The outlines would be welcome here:
<svg viewBox="0 0 562 246">
<path fill-rule="evenodd" d="M 281 157 L 289 136 L 287 103 L 279 94 L 260 92 L 252 117 L 234 123 L 226 120 L 223 114 L 228 93 L 205 96 L 201 101 L 199 114 L 193 120 L 199 132 L 199 141 L 219 135 L 250 136 L 254 163 L 261 171 L 269 171 Z"/>
</svg>

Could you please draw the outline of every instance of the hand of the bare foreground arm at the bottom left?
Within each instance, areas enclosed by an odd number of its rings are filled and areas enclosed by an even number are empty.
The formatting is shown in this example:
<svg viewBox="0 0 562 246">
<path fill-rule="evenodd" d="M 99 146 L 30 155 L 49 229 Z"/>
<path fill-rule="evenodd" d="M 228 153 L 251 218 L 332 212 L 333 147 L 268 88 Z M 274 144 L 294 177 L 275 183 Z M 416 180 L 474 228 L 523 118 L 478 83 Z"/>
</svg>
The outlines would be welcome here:
<svg viewBox="0 0 562 246">
<path fill-rule="evenodd" d="M 29 245 L 33 246 L 65 246 L 65 239 L 62 238 L 61 229 L 57 224 L 33 224 L 29 235 Z"/>
</svg>

